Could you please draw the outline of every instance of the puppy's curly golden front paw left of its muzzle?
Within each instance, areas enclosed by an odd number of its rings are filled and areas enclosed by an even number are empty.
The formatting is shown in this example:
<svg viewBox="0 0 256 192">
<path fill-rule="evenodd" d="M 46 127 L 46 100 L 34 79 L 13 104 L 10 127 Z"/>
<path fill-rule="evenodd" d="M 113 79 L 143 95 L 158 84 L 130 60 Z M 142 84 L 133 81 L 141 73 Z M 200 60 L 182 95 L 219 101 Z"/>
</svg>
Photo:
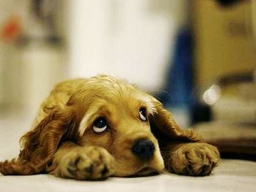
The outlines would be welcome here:
<svg viewBox="0 0 256 192">
<path fill-rule="evenodd" d="M 102 180 L 113 174 L 113 157 L 102 147 L 84 147 L 69 151 L 53 172 L 76 180 Z"/>
</svg>

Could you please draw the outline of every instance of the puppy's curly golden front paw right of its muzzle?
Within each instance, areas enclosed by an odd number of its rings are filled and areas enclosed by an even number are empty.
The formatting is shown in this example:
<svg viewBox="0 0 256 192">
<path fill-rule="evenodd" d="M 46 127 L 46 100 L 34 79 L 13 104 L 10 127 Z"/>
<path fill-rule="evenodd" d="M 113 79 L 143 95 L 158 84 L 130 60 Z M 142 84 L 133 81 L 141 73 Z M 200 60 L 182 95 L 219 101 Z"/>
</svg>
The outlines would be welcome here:
<svg viewBox="0 0 256 192">
<path fill-rule="evenodd" d="M 217 147 L 206 143 L 187 143 L 170 153 L 167 169 L 176 174 L 205 176 L 219 164 Z"/>
</svg>

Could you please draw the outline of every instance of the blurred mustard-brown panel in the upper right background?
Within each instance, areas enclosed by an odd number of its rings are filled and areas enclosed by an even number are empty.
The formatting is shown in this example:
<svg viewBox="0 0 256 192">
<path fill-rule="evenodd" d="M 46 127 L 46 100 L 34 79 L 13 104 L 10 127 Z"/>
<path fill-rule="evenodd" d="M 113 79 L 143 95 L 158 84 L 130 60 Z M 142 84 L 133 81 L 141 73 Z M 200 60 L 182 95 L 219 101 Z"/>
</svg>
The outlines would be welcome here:
<svg viewBox="0 0 256 192">
<path fill-rule="evenodd" d="M 192 4 L 196 82 L 256 67 L 250 1 L 220 7 L 216 1 Z"/>
</svg>

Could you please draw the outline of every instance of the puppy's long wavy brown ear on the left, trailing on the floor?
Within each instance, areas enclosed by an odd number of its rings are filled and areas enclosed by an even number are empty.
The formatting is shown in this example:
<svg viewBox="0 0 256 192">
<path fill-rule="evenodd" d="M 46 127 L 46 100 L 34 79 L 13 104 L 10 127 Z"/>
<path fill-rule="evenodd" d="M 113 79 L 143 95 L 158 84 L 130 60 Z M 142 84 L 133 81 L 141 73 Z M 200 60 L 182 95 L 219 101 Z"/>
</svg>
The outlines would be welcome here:
<svg viewBox="0 0 256 192">
<path fill-rule="evenodd" d="M 71 106 L 55 106 L 33 130 L 20 139 L 22 150 L 17 159 L 0 162 L 2 174 L 37 174 L 45 172 L 60 141 L 69 137 L 75 126 Z"/>
</svg>

